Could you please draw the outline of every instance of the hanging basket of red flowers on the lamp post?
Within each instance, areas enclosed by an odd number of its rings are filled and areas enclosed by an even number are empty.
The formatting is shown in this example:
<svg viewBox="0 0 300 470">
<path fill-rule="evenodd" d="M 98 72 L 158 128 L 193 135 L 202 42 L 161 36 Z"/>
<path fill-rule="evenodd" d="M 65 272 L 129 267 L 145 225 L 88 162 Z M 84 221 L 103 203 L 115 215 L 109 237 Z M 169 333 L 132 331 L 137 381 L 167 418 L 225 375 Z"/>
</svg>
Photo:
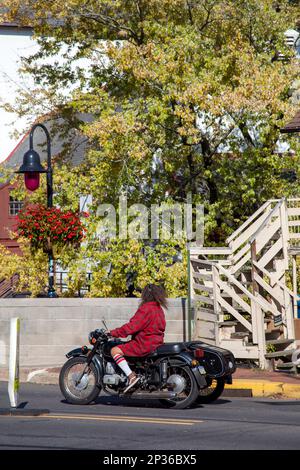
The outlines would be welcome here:
<svg viewBox="0 0 300 470">
<path fill-rule="evenodd" d="M 18 235 L 28 238 L 33 249 L 42 248 L 45 253 L 49 253 L 53 246 L 79 246 L 86 230 L 80 215 L 88 216 L 86 212 L 64 212 L 41 204 L 25 207 L 17 216 Z"/>
</svg>

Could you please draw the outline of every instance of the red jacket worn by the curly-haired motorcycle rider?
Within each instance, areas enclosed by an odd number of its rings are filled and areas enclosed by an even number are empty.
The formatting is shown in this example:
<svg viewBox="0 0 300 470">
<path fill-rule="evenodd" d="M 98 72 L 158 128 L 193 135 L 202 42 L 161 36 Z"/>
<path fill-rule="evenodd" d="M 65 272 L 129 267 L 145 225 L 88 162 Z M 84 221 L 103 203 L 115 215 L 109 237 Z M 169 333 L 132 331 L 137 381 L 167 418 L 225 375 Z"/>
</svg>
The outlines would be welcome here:
<svg viewBox="0 0 300 470">
<path fill-rule="evenodd" d="M 146 356 L 164 342 L 165 314 L 157 302 L 141 305 L 128 323 L 110 331 L 115 338 L 132 335 L 131 341 L 120 345 L 125 356 Z"/>
</svg>

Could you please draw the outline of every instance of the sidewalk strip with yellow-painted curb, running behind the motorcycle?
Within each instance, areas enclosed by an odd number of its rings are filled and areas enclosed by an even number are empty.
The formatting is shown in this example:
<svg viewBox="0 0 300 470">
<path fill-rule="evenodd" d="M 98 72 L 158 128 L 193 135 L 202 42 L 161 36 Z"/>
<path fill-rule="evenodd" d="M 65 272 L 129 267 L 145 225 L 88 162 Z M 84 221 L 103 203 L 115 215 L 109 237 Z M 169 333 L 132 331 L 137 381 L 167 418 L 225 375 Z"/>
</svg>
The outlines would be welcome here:
<svg viewBox="0 0 300 470">
<path fill-rule="evenodd" d="M 22 368 L 20 382 L 58 385 L 60 366 Z M 0 381 L 8 380 L 7 370 L 0 369 Z M 233 384 L 226 385 L 224 397 L 269 397 L 300 400 L 300 375 L 260 369 L 238 368 L 233 375 Z"/>
</svg>

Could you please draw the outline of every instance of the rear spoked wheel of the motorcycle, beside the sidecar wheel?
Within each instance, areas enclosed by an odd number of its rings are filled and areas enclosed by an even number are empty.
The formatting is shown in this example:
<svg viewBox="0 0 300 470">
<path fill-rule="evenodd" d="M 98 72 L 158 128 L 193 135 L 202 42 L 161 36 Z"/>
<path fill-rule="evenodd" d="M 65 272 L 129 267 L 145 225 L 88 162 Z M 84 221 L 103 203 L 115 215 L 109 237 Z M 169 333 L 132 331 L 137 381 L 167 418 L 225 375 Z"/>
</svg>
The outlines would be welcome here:
<svg viewBox="0 0 300 470">
<path fill-rule="evenodd" d="M 193 373 L 185 365 L 170 363 L 168 367 L 167 383 L 174 392 L 176 398 L 162 399 L 161 404 L 168 408 L 184 409 L 191 406 L 198 397 L 198 387 Z"/>
</svg>

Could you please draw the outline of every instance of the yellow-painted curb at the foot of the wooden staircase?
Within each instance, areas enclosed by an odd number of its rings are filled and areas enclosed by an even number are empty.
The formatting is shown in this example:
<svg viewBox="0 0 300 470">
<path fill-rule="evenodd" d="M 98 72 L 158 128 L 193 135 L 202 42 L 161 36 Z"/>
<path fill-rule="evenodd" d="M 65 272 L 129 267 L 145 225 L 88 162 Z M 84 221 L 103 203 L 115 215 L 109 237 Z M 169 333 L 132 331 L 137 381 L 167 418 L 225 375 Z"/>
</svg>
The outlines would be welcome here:
<svg viewBox="0 0 300 470">
<path fill-rule="evenodd" d="M 253 397 L 271 397 L 282 395 L 285 398 L 296 398 L 300 400 L 300 385 L 285 382 L 272 382 L 270 380 L 234 379 L 232 385 L 225 386 L 226 390 L 251 389 Z"/>
</svg>

